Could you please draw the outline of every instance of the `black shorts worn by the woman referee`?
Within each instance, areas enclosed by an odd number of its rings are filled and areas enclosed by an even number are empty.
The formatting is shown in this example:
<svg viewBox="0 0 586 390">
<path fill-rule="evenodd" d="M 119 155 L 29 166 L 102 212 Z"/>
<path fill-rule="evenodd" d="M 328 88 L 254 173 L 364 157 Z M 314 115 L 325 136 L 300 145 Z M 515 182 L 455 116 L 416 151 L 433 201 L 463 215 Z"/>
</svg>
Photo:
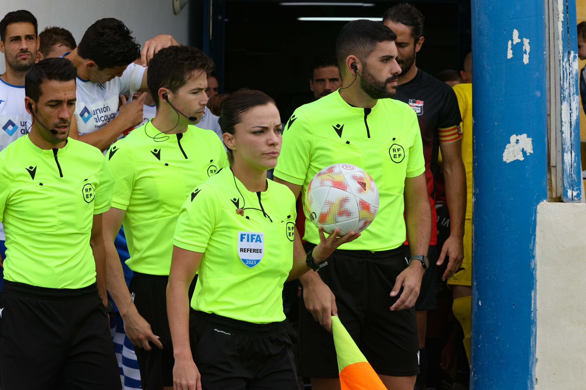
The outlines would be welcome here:
<svg viewBox="0 0 586 390">
<path fill-rule="evenodd" d="M 288 353 L 291 340 L 281 323 L 253 324 L 192 312 L 189 334 L 203 389 L 299 389 Z"/>
</svg>

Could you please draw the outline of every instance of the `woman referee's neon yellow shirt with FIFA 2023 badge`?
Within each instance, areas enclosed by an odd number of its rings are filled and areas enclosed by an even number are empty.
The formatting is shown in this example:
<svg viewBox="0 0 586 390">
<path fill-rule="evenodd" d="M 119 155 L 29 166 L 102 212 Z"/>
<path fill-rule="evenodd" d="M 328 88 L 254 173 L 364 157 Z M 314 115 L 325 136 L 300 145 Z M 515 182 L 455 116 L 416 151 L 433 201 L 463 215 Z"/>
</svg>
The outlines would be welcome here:
<svg viewBox="0 0 586 390">
<path fill-rule="evenodd" d="M 251 323 L 285 319 L 281 294 L 293 265 L 295 199 L 286 186 L 267 182 L 266 191 L 253 193 L 224 168 L 183 204 L 173 244 L 203 253 L 193 309 Z"/>
</svg>

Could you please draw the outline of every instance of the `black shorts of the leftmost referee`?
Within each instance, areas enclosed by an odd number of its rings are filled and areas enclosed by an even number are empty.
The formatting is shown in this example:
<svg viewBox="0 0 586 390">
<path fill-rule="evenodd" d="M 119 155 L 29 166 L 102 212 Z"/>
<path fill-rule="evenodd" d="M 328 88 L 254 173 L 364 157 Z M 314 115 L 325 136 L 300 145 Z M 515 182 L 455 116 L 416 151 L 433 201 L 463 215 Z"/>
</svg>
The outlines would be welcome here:
<svg viewBox="0 0 586 390">
<path fill-rule="evenodd" d="M 96 285 L 51 289 L 5 280 L 2 390 L 120 389 L 108 315 Z"/>
</svg>

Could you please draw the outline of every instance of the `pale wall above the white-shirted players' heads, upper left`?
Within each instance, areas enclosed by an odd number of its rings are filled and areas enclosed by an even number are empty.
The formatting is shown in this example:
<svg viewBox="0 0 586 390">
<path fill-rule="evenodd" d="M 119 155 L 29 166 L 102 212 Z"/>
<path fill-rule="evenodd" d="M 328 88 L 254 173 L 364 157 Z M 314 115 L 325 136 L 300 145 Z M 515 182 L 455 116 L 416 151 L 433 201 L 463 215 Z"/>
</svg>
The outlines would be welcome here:
<svg viewBox="0 0 586 390">
<path fill-rule="evenodd" d="M 122 20 L 138 43 L 155 35 L 171 34 L 177 42 L 189 42 L 189 5 L 173 14 L 171 0 L 0 0 L 0 19 L 7 12 L 28 9 L 37 18 L 39 32 L 47 26 L 70 30 L 79 43 L 88 26 L 101 18 Z M 4 54 L 0 53 L 0 74 L 5 71 Z"/>
</svg>

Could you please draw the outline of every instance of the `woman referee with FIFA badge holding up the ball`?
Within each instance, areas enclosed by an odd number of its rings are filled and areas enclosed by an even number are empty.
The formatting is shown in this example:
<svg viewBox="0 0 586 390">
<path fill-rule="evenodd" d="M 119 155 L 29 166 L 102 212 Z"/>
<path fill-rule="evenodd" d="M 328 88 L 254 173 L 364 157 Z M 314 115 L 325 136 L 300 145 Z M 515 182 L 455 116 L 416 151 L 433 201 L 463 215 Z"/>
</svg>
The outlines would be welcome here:
<svg viewBox="0 0 586 390">
<path fill-rule="evenodd" d="M 167 286 L 174 388 L 298 389 L 281 326 L 283 283 L 319 269 L 360 233 L 338 237 L 336 230 L 326 238 L 320 228 L 319 245 L 305 256 L 294 196 L 267 180 L 282 142 L 275 102 L 241 90 L 210 105 L 232 165 L 197 186 L 179 213 Z"/>
</svg>

